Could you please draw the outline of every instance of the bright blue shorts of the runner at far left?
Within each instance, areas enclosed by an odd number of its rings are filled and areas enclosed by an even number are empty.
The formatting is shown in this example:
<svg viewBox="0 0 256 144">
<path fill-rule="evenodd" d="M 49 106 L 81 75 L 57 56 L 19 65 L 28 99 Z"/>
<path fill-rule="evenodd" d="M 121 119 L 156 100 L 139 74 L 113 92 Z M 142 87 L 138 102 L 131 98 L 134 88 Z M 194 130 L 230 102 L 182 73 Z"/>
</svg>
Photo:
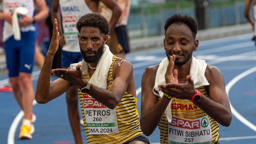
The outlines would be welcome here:
<svg viewBox="0 0 256 144">
<path fill-rule="evenodd" d="M 19 73 L 31 74 L 34 67 L 36 32 L 21 32 L 21 40 L 13 36 L 4 42 L 6 66 L 9 77 L 19 76 Z"/>
</svg>

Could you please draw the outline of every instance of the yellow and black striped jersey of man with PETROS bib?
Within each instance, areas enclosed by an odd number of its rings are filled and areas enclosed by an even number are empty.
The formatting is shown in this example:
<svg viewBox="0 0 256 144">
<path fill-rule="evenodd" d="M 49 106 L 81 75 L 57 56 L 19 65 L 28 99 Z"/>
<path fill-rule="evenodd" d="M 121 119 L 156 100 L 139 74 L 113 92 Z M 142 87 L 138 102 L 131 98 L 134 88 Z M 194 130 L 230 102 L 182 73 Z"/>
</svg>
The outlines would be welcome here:
<svg viewBox="0 0 256 144">
<path fill-rule="evenodd" d="M 108 78 L 107 78 L 107 89 L 110 89 L 111 84 L 113 83 L 113 66 L 116 61 L 117 57 L 114 55 L 112 59 L 111 66 L 108 71 Z M 90 80 L 89 74 L 87 73 L 84 76 L 87 81 Z M 84 113 L 84 106 L 83 106 L 83 97 L 84 94 L 78 89 L 79 94 L 79 101 L 82 110 L 82 117 L 85 122 L 84 130 L 86 133 L 86 138 L 88 143 L 124 143 L 129 141 L 139 135 L 142 135 L 142 131 L 140 129 L 140 122 L 139 122 L 139 114 L 137 110 L 137 99 L 127 92 L 125 92 L 121 102 L 116 107 L 116 116 L 117 116 L 117 124 L 119 133 L 115 134 L 105 134 L 105 135 L 91 135 L 89 134 L 89 130 L 87 129 L 85 113 Z"/>
</svg>

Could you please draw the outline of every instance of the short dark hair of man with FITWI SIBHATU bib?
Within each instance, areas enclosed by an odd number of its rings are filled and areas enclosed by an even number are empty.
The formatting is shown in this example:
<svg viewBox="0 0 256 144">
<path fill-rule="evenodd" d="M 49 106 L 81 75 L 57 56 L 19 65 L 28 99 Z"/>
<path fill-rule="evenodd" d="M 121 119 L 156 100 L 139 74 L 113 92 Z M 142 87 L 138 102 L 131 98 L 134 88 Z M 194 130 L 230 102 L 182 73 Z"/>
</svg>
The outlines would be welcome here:
<svg viewBox="0 0 256 144">
<path fill-rule="evenodd" d="M 184 23 L 192 31 L 193 37 L 196 38 L 198 26 L 194 18 L 189 17 L 188 15 L 174 14 L 172 17 L 166 20 L 164 25 L 164 30 L 165 30 L 164 34 L 166 33 L 167 28 L 170 25 L 172 25 L 172 23 Z"/>
</svg>

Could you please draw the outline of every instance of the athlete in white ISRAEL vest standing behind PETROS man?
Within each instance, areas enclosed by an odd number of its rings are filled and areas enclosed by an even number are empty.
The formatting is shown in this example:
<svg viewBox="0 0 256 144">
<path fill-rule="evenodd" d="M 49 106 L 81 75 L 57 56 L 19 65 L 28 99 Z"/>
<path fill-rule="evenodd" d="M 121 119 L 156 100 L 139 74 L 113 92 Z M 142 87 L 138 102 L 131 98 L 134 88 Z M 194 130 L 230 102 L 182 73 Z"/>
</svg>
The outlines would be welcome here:
<svg viewBox="0 0 256 144">
<path fill-rule="evenodd" d="M 115 0 L 54 0 L 51 7 L 51 18 L 59 22 L 59 45 L 61 46 L 61 68 L 68 68 L 71 63 L 77 63 L 83 59 L 77 39 L 78 31 L 76 23 L 86 13 L 99 11 L 99 3 L 105 4 L 113 15 L 109 21 L 109 35 L 115 29 L 116 23 L 122 14 L 122 10 Z M 58 53 L 58 51 L 57 51 Z M 55 54 L 56 57 L 56 54 Z M 54 64 L 54 62 L 53 62 Z M 78 110 L 78 93 L 75 86 L 70 86 L 66 91 L 68 119 L 76 144 L 83 143 L 81 137 L 81 125 Z"/>
</svg>

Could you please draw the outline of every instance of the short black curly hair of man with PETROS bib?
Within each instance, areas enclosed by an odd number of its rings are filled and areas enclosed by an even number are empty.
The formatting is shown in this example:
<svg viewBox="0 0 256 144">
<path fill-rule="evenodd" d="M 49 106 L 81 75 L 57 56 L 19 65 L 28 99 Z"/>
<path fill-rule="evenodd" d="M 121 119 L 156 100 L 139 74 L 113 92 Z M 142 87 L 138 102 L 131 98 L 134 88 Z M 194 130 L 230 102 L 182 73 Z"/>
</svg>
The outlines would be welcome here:
<svg viewBox="0 0 256 144">
<path fill-rule="evenodd" d="M 85 26 L 97 27 L 105 35 L 108 35 L 109 33 L 108 21 L 99 13 L 87 13 L 83 15 L 76 23 L 76 29 L 79 33 L 81 32 L 81 28 Z"/>
</svg>

